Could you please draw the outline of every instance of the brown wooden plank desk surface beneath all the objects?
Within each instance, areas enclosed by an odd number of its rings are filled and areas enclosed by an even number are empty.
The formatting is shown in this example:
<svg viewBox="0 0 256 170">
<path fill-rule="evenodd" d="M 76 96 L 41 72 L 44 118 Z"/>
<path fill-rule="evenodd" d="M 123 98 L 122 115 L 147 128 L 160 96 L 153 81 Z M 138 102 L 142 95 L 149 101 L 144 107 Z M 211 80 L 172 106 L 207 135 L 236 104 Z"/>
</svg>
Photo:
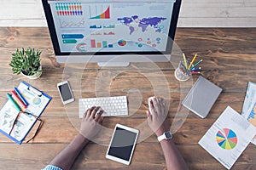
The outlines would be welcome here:
<svg viewBox="0 0 256 170">
<path fill-rule="evenodd" d="M 129 118 L 111 117 L 105 119 L 103 125 L 111 129 L 117 122 L 137 127 L 138 124 L 145 121 L 144 111 L 147 109 L 147 99 L 148 96 L 154 94 L 154 88 L 147 77 L 162 77 L 166 78 L 168 82 L 167 85 L 162 84 L 162 82 L 158 82 L 156 85 L 159 87 L 167 86 L 170 90 L 171 98 L 167 99 L 171 102 L 170 122 L 176 120 L 177 125 L 183 125 L 174 134 L 174 141 L 189 168 L 224 169 L 197 142 L 228 105 L 241 112 L 247 82 L 256 82 L 254 76 L 256 73 L 255 28 L 177 29 L 176 42 L 179 47 L 183 49 L 187 56 L 193 56 L 195 53 L 199 54 L 204 59 L 203 64 L 201 64 L 204 70 L 202 75 L 224 89 L 206 119 L 201 119 L 193 113 L 189 113 L 187 118 L 184 119 L 186 111 L 184 111 L 184 115 L 178 115 L 180 117 L 174 118 L 178 104 L 191 84 L 183 85 L 181 90 L 179 82 L 173 77 L 174 68 L 170 65 L 158 64 L 162 74 L 148 70 L 149 75 L 145 77 L 133 69 L 144 67 L 147 71 L 147 66 L 135 64 L 132 65 L 130 71 L 112 77 L 111 74 L 116 70 L 101 70 L 95 64 L 90 64 L 83 70 L 82 78 L 75 77 L 75 74 L 79 73 L 79 69 L 81 69 L 79 66 L 60 65 L 55 62 L 47 28 L 0 28 L 0 35 L 0 105 L 2 106 L 5 103 L 6 93 L 22 80 L 26 80 L 26 82 L 53 97 L 42 115 L 44 127 L 32 143 L 18 145 L 0 134 L 0 169 L 40 169 L 65 148 L 78 133 L 78 107 L 75 103 L 68 108 L 63 107 L 56 88 L 57 82 L 65 79 L 71 81 L 77 100 L 80 97 L 94 97 L 96 94 L 106 95 L 108 92 L 110 95 L 129 94 L 131 99 L 143 100 L 142 105 L 138 105 L 139 109 L 135 113 L 131 109 L 132 115 Z M 22 47 L 43 50 L 42 63 L 46 71 L 40 79 L 32 81 L 12 74 L 9 67 L 11 53 L 15 52 L 15 48 Z M 64 67 L 66 70 L 64 70 Z M 97 78 L 99 75 L 109 78 L 104 79 L 110 82 L 109 90 L 106 91 L 105 86 L 100 86 L 101 83 L 98 83 L 98 81 L 101 80 Z M 197 77 L 193 77 L 193 81 Z M 102 85 L 104 83 L 108 82 L 102 82 Z M 138 93 L 133 88 L 137 88 L 140 92 Z M 108 144 L 109 139 L 102 137 L 101 141 Z M 106 160 L 105 153 L 107 149 L 107 146 L 101 144 L 89 144 L 80 154 L 73 169 L 164 169 L 166 167 L 160 144 L 158 144 L 154 135 L 137 144 L 129 167 Z M 233 169 L 253 169 L 253 167 L 256 167 L 255 149 L 256 146 L 249 144 L 236 161 Z"/>
</svg>

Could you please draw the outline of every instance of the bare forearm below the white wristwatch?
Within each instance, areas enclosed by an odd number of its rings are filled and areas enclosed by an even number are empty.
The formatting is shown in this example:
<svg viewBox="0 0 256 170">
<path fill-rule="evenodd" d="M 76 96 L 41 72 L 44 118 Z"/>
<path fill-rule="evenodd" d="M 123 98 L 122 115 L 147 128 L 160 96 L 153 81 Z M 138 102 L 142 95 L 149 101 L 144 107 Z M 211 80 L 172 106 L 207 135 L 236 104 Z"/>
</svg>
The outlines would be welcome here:
<svg viewBox="0 0 256 170">
<path fill-rule="evenodd" d="M 177 147 L 173 143 L 172 139 L 162 140 L 160 144 L 164 152 L 166 166 L 168 170 L 188 169 L 187 164 L 183 159 L 183 156 L 181 156 L 179 150 L 177 150 Z"/>
</svg>

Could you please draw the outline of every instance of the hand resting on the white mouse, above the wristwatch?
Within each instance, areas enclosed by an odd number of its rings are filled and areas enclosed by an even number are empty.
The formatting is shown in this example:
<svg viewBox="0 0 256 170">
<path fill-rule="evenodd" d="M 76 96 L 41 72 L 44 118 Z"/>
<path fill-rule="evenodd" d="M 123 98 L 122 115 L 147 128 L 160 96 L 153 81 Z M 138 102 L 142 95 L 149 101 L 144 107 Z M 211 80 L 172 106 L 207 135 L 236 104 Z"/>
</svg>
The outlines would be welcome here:
<svg viewBox="0 0 256 170">
<path fill-rule="evenodd" d="M 149 102 L 151 102 L 151 105 L 148 105 L 152 111 L 152 115 L 147 111 L 148 126 L 157 136 L 160 136 L 168 131 L 168 123 L 166 122 L 168 112 L 165 111 L 165 101 L 162 98 L 154 97 L 153 100 L 150 100 Z"/>
</svg>

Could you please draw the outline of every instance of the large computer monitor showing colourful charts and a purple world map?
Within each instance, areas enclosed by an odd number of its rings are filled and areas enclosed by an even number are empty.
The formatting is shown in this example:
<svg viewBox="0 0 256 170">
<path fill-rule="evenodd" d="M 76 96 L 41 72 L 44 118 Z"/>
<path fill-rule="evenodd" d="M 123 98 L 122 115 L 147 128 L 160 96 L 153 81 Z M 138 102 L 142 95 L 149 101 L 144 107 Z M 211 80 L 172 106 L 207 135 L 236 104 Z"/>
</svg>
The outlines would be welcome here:
<svg viewBox="0 0 256 170">
<path fill-rule="evenodd" d="M 60 63 L 169 61 L 181 0 L 42 0 Z"/>
</svg>

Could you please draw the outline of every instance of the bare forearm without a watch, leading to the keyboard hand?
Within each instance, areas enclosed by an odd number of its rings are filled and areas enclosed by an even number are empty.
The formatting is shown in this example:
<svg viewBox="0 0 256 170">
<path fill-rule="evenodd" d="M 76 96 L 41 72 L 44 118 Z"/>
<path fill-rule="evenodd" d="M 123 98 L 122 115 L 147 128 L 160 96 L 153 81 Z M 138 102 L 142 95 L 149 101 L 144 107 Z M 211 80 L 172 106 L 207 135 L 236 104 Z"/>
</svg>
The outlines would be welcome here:
<svg viewBox="0 0 256 170">
<path fill-rule="evenodd" d="M 61 153 L 55 156 L 50 164 L 61 167 L 63 170 L 69 170 L 73 165 L 73 161 L 88 142 L 89 140 L 85 139 L 82 135 L 77 135 Z"/>
</svg>

